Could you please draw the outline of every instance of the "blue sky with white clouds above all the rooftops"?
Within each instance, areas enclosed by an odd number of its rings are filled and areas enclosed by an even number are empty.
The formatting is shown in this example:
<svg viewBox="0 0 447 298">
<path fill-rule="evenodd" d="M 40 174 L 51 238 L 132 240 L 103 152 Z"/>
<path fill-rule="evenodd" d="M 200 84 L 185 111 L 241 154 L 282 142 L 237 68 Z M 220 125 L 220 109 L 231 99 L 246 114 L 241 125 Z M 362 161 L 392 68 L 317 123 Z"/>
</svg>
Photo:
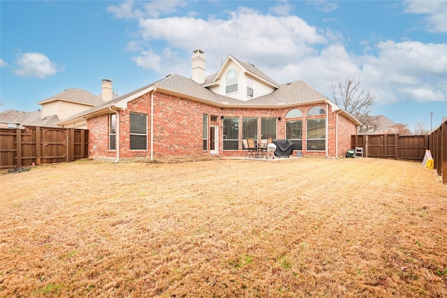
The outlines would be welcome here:
<svg viewBox="0 0 447 298">
<path fill-rule="evenodd" d="M 75 87 L 119 95 L 228 54 L 330 97 L 358 74 L 372 114 L 430 129 L 447 117 L 447 1 L 0 1 L 1 111 Z"/>
</svg>

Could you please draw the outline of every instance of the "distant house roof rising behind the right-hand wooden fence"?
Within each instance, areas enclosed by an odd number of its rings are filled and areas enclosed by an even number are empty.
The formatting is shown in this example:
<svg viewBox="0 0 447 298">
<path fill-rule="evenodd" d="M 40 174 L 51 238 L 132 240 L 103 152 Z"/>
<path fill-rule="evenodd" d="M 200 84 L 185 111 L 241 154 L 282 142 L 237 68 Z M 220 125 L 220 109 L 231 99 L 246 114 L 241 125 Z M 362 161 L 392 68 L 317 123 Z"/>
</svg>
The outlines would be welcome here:
<svg viewBox="0 0 447 298">
<path fill-rule="evenodd" d="M 398 124 L 383 115 L 368 116 L 366 121 L 358 127 L 359 135 L 411 135 L 411 131 L 404 124 Z"/>
</svg>

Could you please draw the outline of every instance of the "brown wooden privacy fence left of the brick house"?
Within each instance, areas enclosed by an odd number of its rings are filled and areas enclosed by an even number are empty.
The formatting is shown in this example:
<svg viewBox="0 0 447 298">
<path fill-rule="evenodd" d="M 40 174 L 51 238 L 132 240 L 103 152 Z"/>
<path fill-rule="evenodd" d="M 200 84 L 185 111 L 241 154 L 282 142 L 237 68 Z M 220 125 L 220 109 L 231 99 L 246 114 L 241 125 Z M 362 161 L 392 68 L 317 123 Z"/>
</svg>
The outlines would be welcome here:
<svg viewBox="0 0 447 298">
<path fill-rule="evenodd" d="M 0 128 L 0 167 L 61 163 L 88 157 L 89 131 L 26 126 Z"/>
</svg>

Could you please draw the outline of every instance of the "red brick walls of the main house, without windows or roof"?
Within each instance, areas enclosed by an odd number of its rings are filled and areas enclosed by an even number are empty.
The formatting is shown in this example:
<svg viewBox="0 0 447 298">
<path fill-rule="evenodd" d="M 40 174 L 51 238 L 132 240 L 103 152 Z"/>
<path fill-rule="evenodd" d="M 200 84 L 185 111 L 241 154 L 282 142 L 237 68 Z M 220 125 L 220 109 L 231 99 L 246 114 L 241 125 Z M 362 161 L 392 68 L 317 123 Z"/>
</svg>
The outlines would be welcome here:
<svg viewBox="0 0 447 298">
<path fill-rule="evenodd" d="M 328 113 L 328 156 L 335 156 L 335 142 L 336 142 L 336 113 L 332 113 L 330 105 L 325 103 L 318 104 L 324 107 Z M 302 117 L 302 155 L 303 156 L 326 156 L 325 151 L 307 151 L 306 150 L 306 120 L 318 118 L 319 116 L 307 117 L 306 113 L 309 108 L 316 105 L 305 105 L 298 108 L 303 114 Z M 198 103 L 177 96 L 168 94 L 154 93 L 154 159 L 185 157 L 185 156 L 206 156 L 210 154 L 208 151 L 203 151 L 202 138 L 202 121 L 203 114 L 213 114 L 218 116 L 219 121 L 219 156 L 244 156 L 245 151 L 242 151 L 242 142 L 240 142 L 239 151 L 223 151 L 223 117 L 258 117 L 259 135 L 261 135 L 261 117 L 281 117 L 277 121 L 277 139 L 284 139 L 286 137 L 285 124 L 286 113 L 292 110 L 288 109 L 221 109 L 205 103 Z M 147 150 L 130 150 L 130 113 L 138 112 L 147 114 Z M 151 112 L 151 94 L 145 94 L 131 100 L 126 110 L 119 111 L 119 157 L 120 158 L 150 158 L 150 112 Z M 324 116 L 326 117 L 326 116 Z M 116 158 L 117 152 L 108 150 L 108 122 L 109 116 L 103 115 L 94 117 L 87 121 L 87 128 L 89 129 L 89 156 L 94 158 Z M 208 121 L 208 125 L 210 125 Z M 348 120 L 339 116 L 338 120 L 338 141 L 339 149 L 338 155 L 344 155 L 346 151 L 344 148 L 350 146 L 350 137 L 355 133 L 355 126 Z M 208 132 L 210 130 L 208 129 Z M 242 131 L 240 131 L 240 139 Z M 94 148 L 96 146 L 96 149 Z M 347 146 L 347 147 L 346 147 Z"/>
</svg>

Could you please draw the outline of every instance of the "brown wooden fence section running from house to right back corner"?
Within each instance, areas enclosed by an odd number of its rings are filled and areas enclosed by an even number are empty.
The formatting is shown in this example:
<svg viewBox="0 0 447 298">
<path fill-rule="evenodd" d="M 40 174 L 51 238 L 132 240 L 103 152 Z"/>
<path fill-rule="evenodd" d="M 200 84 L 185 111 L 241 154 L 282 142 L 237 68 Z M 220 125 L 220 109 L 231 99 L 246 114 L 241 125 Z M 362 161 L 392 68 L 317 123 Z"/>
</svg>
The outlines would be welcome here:
<svg viewBox="0 0 447 298">
<path fill-rule="evenodd" d="M 363 147 L 365 157 L 423 161 L 428 135 L 352 135 L 351 147 Z"/>
</svg>

